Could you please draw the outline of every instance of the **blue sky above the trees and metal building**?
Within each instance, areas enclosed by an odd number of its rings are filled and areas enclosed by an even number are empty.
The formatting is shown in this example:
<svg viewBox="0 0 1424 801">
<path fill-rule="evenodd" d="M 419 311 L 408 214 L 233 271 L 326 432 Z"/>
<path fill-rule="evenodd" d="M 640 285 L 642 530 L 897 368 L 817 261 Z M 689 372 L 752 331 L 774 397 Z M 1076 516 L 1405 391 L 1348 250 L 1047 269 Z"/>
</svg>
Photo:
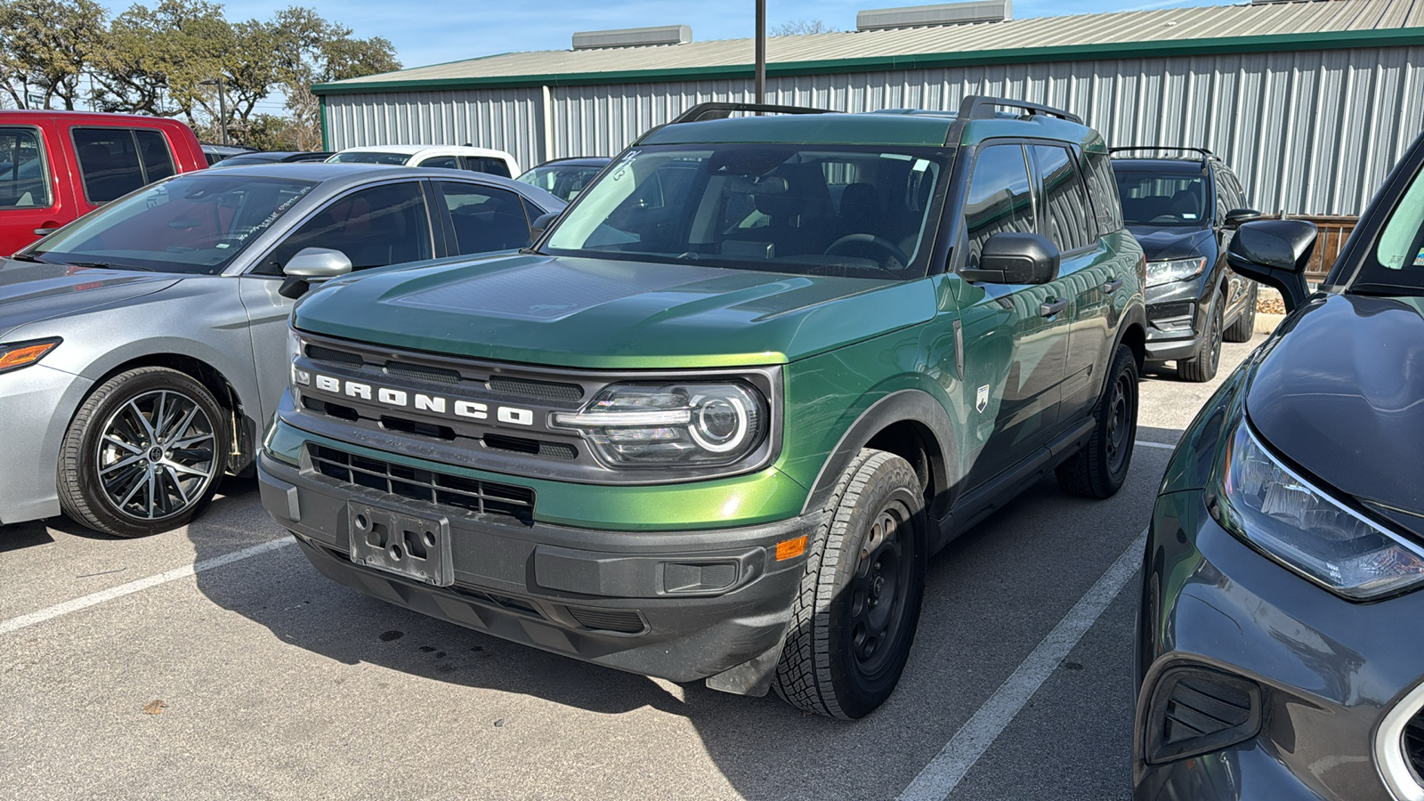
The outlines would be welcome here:
<svg viewBox="0 0 1424 801">
<path fill-rule="evenodd" d="M 930 3 L 933 0 L 926 0 Z M 276 9 L 302 4 L 345 23 L 359 37 L 383 36 L 406 67 L 423 67 L 518 50 L 567 50 L 574 31 L 689 24 L 696 41 L 752 36 L 753 0 L 263 0 L 226 3 L 229 20 L 266 19 Z M 790 20 L 822 20 L 854 30 L 856 11 L 920 4 L 914 0 L 768 0 L 769 26 Z M 1014 17 L 1088 14 L 1129 9 L 1226 4 L 1223 0 L 1015 0 Z M 127 4 L 110 3 L 114 10 Z"/>
</svg>

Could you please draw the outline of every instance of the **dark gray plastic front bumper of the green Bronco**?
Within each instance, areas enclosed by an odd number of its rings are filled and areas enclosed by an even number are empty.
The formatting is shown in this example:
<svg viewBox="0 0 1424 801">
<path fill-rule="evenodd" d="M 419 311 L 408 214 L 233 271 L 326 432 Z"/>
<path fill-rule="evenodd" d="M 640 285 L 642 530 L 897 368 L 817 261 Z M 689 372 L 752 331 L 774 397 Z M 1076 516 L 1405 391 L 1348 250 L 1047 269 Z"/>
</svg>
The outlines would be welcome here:
<svg viewBox="0 0 1424 801">
<path fill-rule="evenodd" d="M 718 677 L 709 684 L 749 694 L 766 690 L 805 569 L 803 556 L 778 562 L 776 543 L 819 523 L 812 515 L 695 532 L 500 524 L 266 453 L 258 477 L 263 506 L 302 553 L 357 591 L 584 661 L 672 681 Z M 347 502 L 443 515 L 454 583 L 353 563 Z"/>
</svg>

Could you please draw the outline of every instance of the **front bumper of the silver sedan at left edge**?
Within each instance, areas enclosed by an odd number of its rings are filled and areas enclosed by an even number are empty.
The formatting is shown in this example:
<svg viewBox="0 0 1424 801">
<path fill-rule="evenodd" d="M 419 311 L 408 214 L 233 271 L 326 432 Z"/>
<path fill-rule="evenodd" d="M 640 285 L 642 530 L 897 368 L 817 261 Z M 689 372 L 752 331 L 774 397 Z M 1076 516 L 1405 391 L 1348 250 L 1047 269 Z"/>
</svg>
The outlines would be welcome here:
<svg viewBox="0 0 1424 801">
<path fill-rule="evenodd" d="M 43 363 L 0 375 L 0 524 L 60 513 L 60 443 L 93 385 Z"/>
</svg>

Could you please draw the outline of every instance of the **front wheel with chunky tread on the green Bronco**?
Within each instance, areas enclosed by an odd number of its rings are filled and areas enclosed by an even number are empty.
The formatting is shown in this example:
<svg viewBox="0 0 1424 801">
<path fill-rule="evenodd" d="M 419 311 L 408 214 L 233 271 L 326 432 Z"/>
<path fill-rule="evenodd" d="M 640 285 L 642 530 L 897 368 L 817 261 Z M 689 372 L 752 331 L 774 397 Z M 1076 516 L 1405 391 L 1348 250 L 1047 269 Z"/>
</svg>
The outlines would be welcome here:
<svg viewBox="0 0 1424 801">
<path fill-rule="evenodd" d="M 827 512 L 807 549 L 772 686 L 809 713 L 859 720 L 894 691 L 920 620 L 920 479 L 904 459 L 863 449 Z"/>
</svg>

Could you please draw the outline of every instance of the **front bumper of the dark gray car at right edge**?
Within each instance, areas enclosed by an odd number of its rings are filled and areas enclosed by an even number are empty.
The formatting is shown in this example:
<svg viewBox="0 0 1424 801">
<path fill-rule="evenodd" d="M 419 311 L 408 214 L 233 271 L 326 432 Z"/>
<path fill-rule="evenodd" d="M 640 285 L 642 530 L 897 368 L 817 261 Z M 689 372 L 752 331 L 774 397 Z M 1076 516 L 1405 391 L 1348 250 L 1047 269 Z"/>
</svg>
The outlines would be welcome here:
<svg viewBox="0 0 1424 801">
<path fill-rule="evenodd" d="M 1400 731 L 1424 698 L 1424 593 L 1340 599 L 1250 549 L 1206 510 L 1200 490 L 1158 499 L 1148 537 L 1136 651 L 1138 801 L 1424 798 Z M 1259 688 L 1259 731 L 1225 748 L 1149 764 L 1165 725 L 1159 680 L 1218 671 Z M 1421 715 L 1424 720 L 1424 715 Z M 1388 724 L 1396 724 L 1393 728 Z M 1381 768 L 1386 761 L 1394 767 Z M 1408 792 L 1415 792 L 1410 795 Z"/>
</svg>

